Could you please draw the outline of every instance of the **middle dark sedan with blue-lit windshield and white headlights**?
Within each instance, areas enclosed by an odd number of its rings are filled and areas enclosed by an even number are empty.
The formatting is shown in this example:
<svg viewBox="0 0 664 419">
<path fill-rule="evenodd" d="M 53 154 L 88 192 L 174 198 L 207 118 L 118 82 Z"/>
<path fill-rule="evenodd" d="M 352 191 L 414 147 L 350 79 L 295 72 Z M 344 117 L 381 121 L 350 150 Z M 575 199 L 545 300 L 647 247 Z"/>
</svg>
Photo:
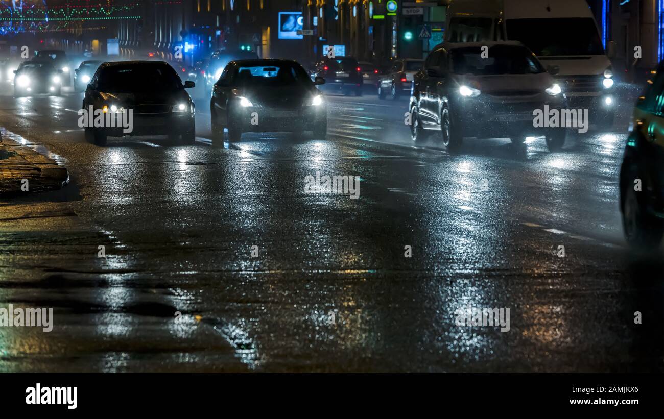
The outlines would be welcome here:
<svg viewBox="0 0 664 419">
<path fill-rule="evenodd" d="M 313 131 L 324 139 L 327 105 L 307 72 L 292 60 L 237 60 L 228 63 L 214 84 L 210 99 L 212 137 L 240 141 L 242 133 Z"/>
</svg>

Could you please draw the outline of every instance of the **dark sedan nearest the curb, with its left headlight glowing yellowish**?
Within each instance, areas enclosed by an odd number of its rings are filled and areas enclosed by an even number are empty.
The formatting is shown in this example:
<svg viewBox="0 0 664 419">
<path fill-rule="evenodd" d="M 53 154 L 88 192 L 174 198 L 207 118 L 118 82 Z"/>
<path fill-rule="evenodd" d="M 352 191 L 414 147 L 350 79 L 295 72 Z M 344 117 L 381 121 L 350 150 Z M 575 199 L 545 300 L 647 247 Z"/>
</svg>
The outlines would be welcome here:
<svg viewBox="0 0 664 419">
<path fill-rule="evenodd" d="M 185 89 L 194 86 L 194 82 L 183 84 L 163 61 L 105 62 L 83 98 L 80 121 L 86 139 L 106 145 L 107 137 L 168 135 L 193 144 L 194 103 Z M 92 113 L 94 117 L 89 116 Z"/>
</svg>

